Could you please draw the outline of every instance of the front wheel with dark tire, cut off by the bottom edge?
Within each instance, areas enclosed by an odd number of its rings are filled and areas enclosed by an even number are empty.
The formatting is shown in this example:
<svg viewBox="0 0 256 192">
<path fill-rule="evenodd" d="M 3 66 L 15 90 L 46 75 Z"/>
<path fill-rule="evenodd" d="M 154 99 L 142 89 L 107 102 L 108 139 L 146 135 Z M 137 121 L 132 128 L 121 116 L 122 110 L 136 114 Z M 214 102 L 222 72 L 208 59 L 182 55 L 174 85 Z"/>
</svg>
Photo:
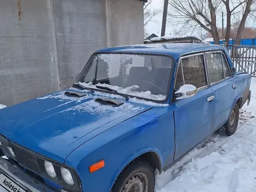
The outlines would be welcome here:
<svg viewBox="0 0 256 192">
<path fill-rule="evenodd" d="M 130 162 L 116 179 L 111 192 L 154 192 L 155 172 L 150 163 L 138 158 Z"/>
</svg>

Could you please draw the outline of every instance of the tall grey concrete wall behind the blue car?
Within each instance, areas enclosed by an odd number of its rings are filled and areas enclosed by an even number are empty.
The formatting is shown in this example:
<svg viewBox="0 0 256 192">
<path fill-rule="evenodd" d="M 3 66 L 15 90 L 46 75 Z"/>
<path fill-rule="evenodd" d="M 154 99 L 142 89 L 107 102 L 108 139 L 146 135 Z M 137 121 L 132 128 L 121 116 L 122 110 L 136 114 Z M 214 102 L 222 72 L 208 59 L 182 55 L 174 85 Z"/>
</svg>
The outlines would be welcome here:
<svg viewBox="0 0 256 192">
<path fill-rule="evenodd" d="M 97 49 L 143 43 L 138 0 L 1 0 L 0 103 L 70 87 Z"/>
</svg>

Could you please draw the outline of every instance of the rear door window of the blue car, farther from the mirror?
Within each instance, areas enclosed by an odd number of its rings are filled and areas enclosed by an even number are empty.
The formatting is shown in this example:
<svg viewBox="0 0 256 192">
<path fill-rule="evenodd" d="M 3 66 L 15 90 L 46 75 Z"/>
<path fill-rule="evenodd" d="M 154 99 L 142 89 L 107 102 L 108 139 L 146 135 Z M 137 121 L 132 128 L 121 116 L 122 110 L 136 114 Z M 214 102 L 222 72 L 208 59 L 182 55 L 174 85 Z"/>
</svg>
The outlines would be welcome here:
<svg viewBox="0 0 256 192">
<path fill-rule="evenodd" d="M 222 54 L 208 53 L 206 54 L 206 59 L 210 83 L 216 83 L 225 79 L 222 65 Z"/>
</svg>

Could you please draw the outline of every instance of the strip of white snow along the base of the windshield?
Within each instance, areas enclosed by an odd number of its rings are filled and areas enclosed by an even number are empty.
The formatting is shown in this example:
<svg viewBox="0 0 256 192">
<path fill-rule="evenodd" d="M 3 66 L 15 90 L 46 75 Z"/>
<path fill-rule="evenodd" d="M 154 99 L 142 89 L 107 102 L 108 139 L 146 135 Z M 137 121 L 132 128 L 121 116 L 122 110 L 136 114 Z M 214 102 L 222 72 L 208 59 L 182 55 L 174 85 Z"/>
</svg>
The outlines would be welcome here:
<svg viewBox="0 0 256 192">
<path fill-rule="evenodd" d="M 81 83 L 81 82 L 79 82 L 79 83 L 84 87 L 96 88 L 97 89 L 96 85 L 93 85 L 93 83 L 91 83 L 91 82 L 90 83 Z M 127 94 L 127 95 L 133 95 L 135 97 L 154 99 L 154 100 L 158 100 L 158 101 L 162 101 L 166 98 L 166 95 L 153 95 L 153 94 L 151 94 L 150 91 L 138 92 L 138 91 L 136 91 L 138 86 L 130 86 L 130 87 L 123 88 L 123 87 L 111 86 L 109 84 L 101 84 L 101 83 L 98 83 L 97 86 L 104 86 L 104 87 L 112 88 L 113 90 L 116 90 L 119 93 Z"/>
</svg>

